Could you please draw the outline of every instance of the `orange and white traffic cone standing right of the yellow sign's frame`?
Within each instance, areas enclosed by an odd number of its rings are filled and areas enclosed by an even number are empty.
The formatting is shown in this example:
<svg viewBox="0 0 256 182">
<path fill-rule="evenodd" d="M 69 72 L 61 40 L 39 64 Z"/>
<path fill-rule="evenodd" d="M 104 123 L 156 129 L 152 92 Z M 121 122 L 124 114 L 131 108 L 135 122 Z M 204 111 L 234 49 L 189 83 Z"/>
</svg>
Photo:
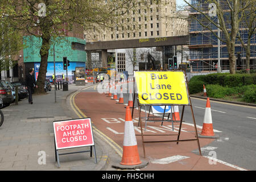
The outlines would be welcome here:
<svg viewBox="0 0 256 182">
<path fill-rule="evenodd" d="M 212 112 L 210 110 L 210 98 L 207 98 L 207 105 L 205 107 L 204 113 L 204 123 L 200 138 L 218 138 L 217 135 L 214 135 L 213 125 L 212 125 Z"/>
</svg>

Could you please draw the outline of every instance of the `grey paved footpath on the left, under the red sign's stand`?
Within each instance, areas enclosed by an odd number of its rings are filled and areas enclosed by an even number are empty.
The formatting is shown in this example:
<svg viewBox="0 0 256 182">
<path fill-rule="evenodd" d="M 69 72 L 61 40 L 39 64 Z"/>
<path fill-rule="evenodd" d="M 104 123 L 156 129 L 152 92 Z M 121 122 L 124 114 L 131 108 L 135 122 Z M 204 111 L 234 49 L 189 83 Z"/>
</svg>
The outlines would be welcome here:
<svg viewBox="0 0 256 182">
<path fill-rule="evenodd" d="M 92 84 L 86 84 L 90 86 Z M 0 127 L 0 170 L 102 170 L 106 167 L 108 150 L 94 135 L 98 164 L 89 152 L 60 156 L 60 168 L 55 162 L 53 121 L 78 118 L 69 109 L 68 96 L 86 86 L 68 85 L 68 91 L 52 89 L 46 95 L 33 95 L 33 104 L 24 99 L 18 105 L 2 109 L 5 121 Z M 52 86 L 53 88 L 53 86 Z M 89 150 L 89 147 L 60 150 Z M 39 151 L 43 151 L 39 153 Z M 45 153 L 44 153 L 45 152 Z M 43 156 L 46 154 L 46 164 Z"/>
</svg>

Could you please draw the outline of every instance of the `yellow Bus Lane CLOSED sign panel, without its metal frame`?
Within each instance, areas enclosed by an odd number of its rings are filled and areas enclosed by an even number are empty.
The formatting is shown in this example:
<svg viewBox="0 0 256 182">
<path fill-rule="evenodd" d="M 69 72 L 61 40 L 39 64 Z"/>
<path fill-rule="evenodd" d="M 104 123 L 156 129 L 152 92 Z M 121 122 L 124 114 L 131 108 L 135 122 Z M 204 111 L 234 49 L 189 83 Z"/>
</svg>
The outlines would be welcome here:
<svg viewBox="0 0 256 182">
<path fill-rule="evenodd" d="M 188 105 L 188 92 L 182 71 L 134 72 L 139 104 Z"/>
</svg>

